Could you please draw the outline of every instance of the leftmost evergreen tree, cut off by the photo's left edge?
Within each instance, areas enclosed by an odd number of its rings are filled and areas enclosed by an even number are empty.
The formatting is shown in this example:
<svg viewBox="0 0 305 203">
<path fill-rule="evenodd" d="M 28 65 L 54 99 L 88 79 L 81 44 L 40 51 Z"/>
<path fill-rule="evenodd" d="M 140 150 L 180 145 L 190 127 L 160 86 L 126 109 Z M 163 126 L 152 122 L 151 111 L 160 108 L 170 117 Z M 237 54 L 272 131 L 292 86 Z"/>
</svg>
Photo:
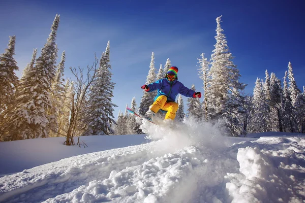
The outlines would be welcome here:
<svg viewBox="0 0 305 203">
<path fill-rule="evenodd" d="M 14 103 L 16 87 L 19 85 L 15 71 L 18 71 L 15 55 L 16 36 L 10 36 L 8 48 L 0 54 L 0 125 L 5 111 Z"/>
</svg>

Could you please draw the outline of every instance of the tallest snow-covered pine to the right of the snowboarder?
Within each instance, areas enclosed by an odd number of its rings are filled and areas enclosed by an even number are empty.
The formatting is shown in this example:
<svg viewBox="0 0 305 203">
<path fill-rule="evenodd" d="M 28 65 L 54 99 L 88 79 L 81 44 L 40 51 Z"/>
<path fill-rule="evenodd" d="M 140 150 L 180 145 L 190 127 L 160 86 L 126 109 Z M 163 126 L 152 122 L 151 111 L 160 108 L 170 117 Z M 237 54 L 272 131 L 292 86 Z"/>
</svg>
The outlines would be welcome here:
<svg viewBox="0 0 305 203">
<path fill-rule="evenodd" d="M 211 68 L 208 73 L 209 84 L 207 87 L 207 109 L 208 117 L 216 120 L 223 117 L 229 94 L 232 94 L 233 88 L 240 91 L 246 85 L 239 83 L 239 71 L 233 63 L 232 53 L 227 45 L 226 37 L 221 28 L 221 17 L 216 18 L 217 35 L 215 36 L 215 49 L 211 55 Z"/>
</svg>

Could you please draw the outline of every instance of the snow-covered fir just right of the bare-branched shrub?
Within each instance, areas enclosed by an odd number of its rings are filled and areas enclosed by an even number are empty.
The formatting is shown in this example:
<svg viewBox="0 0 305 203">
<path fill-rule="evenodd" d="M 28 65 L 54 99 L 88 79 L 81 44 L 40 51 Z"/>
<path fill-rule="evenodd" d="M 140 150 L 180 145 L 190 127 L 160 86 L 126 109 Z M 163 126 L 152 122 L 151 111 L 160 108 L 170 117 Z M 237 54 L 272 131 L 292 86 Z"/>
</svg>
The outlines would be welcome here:
<svg viewBox="0 0 305 203">
<path fill-rule="evenodd" d="M 110 65 L 110 42 L 108 41 L 106 51 L 102 53 L 100 66 L 88 94 L 88 106 L 85 108 L 87 129 L 84 135 L 109 135 L 113 134 L 112 125 L 114 107 L 112 103 L 113 89 L 115 83 L 111 82 L 112 73 Z"/>
</svg>

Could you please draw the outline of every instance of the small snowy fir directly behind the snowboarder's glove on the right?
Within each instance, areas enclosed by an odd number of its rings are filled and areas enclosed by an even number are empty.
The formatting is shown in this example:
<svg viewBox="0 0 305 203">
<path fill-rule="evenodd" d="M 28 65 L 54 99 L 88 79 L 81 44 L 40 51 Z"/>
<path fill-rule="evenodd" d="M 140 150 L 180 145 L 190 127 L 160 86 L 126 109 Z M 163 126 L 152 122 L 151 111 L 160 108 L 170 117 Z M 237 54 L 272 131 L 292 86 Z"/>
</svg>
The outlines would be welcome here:
<svg viewBox="0 0 305 203">
<path fill-rule="evenodd" d="M 193 84 L 191 87 L 192 90 L 196 92 L 195 85 Z M 202 109 L 200 100 L 198 97 L 196 98 L 188 98 L 188 110 L 187 110 L 187 117 L 193 117 L 196 121 L 201 121 L 202 119 Z"/>
</svg>

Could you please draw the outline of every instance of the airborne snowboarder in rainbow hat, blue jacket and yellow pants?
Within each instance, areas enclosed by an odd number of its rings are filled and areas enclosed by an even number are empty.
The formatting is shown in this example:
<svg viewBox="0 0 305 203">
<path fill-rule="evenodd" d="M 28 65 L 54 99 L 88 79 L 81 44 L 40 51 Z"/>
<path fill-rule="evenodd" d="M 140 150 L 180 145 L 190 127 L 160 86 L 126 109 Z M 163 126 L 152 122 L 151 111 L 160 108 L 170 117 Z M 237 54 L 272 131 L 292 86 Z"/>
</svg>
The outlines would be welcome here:
<svg viewBox="0 0 305 203">
<path fill-rule="evenodd" d="M 145 114 L 148 120 L 153 121 L 155 114 L 160 109 L 167 111 L 165 119 L 174 120 L 178 110 L 178 104 L 175 103 L 175 99 L 179 93 L 187 97 L 201 97 L 201 92 L 195 92 L 179 82 L 177 73 L 178 68 L 172 66 L 166 73 L 165 78 L 141 87 L 146 92 L 158 90 L 154 103 L 149 106 L 149 110 Z"/>
</svg>

